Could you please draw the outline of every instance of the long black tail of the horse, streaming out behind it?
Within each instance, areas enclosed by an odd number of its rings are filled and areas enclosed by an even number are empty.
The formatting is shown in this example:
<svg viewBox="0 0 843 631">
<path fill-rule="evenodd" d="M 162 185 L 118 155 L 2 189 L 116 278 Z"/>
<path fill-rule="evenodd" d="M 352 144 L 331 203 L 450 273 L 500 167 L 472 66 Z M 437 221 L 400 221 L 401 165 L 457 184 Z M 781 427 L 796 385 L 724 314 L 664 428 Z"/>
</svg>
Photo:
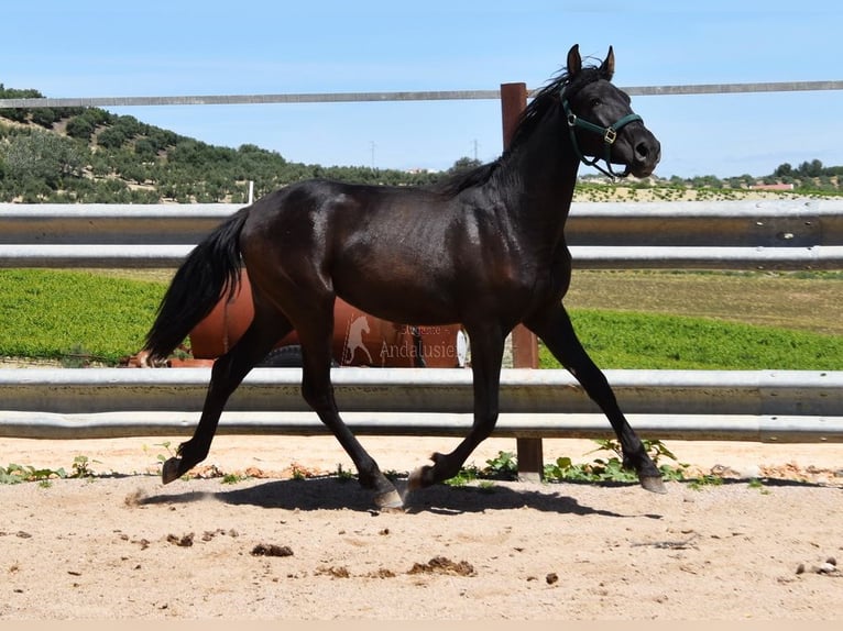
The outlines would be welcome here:
<svg viewBox="0 0 843 631">
<path fill-rule="evenodd" d="M 146 334 L 150 358 L 164 359 L 211 312 L 223 291 L 233 295 L 240 284 L 240 231 L 249 207 L 240 209 L 211 232 L 176 272 L 155 322 Z"/>
</svg>

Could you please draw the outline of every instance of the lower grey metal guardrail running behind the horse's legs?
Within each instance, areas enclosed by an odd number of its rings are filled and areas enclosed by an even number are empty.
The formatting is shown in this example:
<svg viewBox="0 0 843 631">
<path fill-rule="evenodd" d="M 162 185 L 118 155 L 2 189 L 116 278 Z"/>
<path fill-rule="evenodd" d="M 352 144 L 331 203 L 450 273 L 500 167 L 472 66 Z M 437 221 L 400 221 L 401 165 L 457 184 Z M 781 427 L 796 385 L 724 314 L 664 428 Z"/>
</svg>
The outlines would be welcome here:
<svg viewBox="0 0 843 631">
<path fill-rule="evenodd" d="M 653 438 L 843 442 L 843 372 L 606 370 Z M 210 370 L 0 369 L 0 435 L 161 435 L 191 429 Z M 337 368 L 337 402 L 362 433 L 459 435 L 471 425 L 471 372 Z M 319 434 L 297 368 L 258 368 L 229 401 L 220 432 Z M 567 370 L 505 369 L 496 435 L 594 438 L 611 432 Z M 646 435 L 646 434 L 645 434 Z"/>
</svg>

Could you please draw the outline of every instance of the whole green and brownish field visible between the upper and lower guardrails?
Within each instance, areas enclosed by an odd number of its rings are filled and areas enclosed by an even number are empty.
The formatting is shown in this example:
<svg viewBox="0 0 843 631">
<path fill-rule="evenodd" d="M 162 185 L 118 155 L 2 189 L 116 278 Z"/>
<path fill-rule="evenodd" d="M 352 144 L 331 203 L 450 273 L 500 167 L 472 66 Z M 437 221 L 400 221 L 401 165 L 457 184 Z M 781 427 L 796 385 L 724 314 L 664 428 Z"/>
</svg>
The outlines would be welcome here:
<svg viewBox="0 0 843 631">
<path fill-rule="evenodd" d="M 0 270 L 0 356 L 116 365 L 143 345 L 168 276 Z M 566 303 L 603 368 L 840 370 L 841 295 L 839 274 L 590 272 Z"/>
</svg>

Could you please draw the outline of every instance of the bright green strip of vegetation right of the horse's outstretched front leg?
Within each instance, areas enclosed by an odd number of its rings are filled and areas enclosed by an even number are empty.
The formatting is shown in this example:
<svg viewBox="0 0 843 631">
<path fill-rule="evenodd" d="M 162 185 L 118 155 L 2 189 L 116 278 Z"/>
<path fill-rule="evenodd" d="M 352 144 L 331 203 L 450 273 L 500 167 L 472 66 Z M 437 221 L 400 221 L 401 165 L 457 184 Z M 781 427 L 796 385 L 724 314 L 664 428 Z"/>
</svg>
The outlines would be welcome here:
<svg viewBox="0 0 843 631">
<path fill-rule="evenodd" d="M 571 320 L 601 368 L 843 369 L 841 335 L 627 311 L 574 310 Z M 544 346 L 539 361 L 559 367 Z"/>
</svg>

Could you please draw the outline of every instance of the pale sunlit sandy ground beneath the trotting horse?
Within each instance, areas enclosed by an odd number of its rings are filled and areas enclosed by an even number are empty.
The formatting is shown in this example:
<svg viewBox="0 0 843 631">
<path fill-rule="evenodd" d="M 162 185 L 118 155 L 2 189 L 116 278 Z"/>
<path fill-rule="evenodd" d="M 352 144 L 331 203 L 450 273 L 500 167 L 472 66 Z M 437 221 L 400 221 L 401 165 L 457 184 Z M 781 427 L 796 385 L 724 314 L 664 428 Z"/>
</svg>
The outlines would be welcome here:
<svg viewBox="0 0 843 631">
<path fill-rule="evenodd" d="M 0 464 L 84 455 L 97 474 L 0 485 L 0 620 L 843 618 L 837 445 L 671 442 L 725 483 L 439 486 L 377 512 L 336 475 L 351 465 L 332 439 L 217 436 L 206 474 L 261 477 L 162 486 L 179 440 L 0 439 Z M 455 444 L 362 440 L 395 472 Z M 546 461 L 593 449 L 545 441 Z M 514 450 L 490 440 L 471 462 Z"/>
</svg>

